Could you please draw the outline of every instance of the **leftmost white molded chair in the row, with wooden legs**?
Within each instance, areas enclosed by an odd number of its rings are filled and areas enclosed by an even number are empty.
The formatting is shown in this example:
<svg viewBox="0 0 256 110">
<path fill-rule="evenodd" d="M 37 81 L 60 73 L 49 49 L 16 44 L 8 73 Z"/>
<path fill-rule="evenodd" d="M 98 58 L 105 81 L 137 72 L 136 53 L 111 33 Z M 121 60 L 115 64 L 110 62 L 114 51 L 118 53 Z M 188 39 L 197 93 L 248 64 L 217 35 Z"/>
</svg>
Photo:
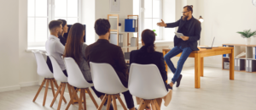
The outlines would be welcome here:
<svg viewBox="0 0 256 110">
<path fill-rule="evenodd" d="M 46 87 L 45 87 L 45 91 L 44 91 L 44 102 L 43 102 L 43 106 L 44 106 L 45 105 L 45 101 L 46 101 L 46 96 L 47 96 L 47 91 L 48 91 L 49 83 L 51 85 L 51 90 L 52 90 L 53 96 L 55 96 L 54 85 L 56 87 L 58 87 L 58 85 L 57 85 L 57 82 L 54 79 L 53 74 L 50 72 L 49 67 L 48 67 L 45 59 L 44 59 L 44 56 L 43 56 L 44 53 L 43 52 L 39 52 L 39 51 L 32 51 L 32 52 L 34 53 L 36 61 L 37 61 L 37 65 L 38 65 L 38 70 L 37 71 L 38 71 L 38 74 L 40 76 L 44 77 L 44 81 L 40 85 L 40 88 L 39 88 L 36 96 L 34 97 L 33 102 L 35 102 L 36 99 L 38 98 L 38 94 L 40 93 L 40 91 L 42 90 L 42 88 L 44 86 L 44 83 L 46 82 Z"/>
</svg>

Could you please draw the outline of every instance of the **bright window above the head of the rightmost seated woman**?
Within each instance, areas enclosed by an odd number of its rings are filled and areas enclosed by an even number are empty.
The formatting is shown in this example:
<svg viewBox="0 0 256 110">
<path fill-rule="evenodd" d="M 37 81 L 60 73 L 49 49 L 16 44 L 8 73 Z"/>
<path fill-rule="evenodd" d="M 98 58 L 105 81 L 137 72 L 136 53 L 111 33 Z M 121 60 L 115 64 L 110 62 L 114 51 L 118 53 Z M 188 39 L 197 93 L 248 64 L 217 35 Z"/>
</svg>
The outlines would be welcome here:
<svg viewBox="0 0 256 110">
<path fill-rule="evenodd" d="M 156 40 L 162 40 L 162 30 L 156 25 L 162 19 L 162 0 L 133 0 L 133 14 L 140 15 L 142 30 L 155 30 Z"/>
</svg>

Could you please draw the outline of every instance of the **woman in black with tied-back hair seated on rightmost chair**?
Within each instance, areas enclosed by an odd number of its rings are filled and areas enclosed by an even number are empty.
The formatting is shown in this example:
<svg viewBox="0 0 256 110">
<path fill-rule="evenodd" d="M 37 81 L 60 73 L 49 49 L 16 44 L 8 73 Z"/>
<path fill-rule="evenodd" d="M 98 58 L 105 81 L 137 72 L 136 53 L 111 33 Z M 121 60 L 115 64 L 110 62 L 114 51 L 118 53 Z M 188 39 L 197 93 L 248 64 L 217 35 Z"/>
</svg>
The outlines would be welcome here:
<svg viewBox="0 0 256 110">
<path fill-rule="evenodd" d="M 163 57 L 162 52 L 155 52 L 154 50 L 154 40 L 155 40 L 155 34 L 152 30 L 143 30 L 142 33 L 142 43 L 143 47 L 141 47 L 139 50 L 131 51 L 130 54 L 130 64 L 131 63 L 138 63 L 138 64 L 155 64 L 158 69 L 160 70 L 160 74 L 162 76 L 163 82 L 166 85 L 166 91 L 168 89 L 172 90 L 171 85 L 168 85 L 166 83 L 167 80 L 167 74 L 166 74 L 166 66 L 165 66 L 165 60 Z M 168 93 L 168 95 L 172 96 L 172 91 Z M 167 96 L 168 96 L 167 95 Z M 171 97 L 169 97 L 169 100 Z M 166 98 L 164 99 L 166 100 Z M 162 99 L 157 99 L 157 102 L 159 105 L 161 105 Z M 166 101 L 167 102 L 167 101 Z M 165 104 L 166 105 L 166 104 Z M 147 106 L 147 109 L 150 108 L 150 105 Z"/>
</svg>

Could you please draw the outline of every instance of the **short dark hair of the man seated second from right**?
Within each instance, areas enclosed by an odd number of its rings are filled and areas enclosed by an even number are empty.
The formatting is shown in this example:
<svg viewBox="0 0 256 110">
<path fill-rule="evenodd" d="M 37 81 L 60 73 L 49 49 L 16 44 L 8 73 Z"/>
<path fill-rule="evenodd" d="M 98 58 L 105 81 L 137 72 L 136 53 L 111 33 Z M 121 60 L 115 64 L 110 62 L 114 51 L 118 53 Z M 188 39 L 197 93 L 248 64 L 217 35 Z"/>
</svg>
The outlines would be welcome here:
<svg viewBox="0 0 256 110">
<path fill-rule="evenodd" d="M 94 25 L 94 29 L 98 36 L 106 35 L 110 29 L 110 23 L 108 19 L 97 19 Z"/>
</svg>

